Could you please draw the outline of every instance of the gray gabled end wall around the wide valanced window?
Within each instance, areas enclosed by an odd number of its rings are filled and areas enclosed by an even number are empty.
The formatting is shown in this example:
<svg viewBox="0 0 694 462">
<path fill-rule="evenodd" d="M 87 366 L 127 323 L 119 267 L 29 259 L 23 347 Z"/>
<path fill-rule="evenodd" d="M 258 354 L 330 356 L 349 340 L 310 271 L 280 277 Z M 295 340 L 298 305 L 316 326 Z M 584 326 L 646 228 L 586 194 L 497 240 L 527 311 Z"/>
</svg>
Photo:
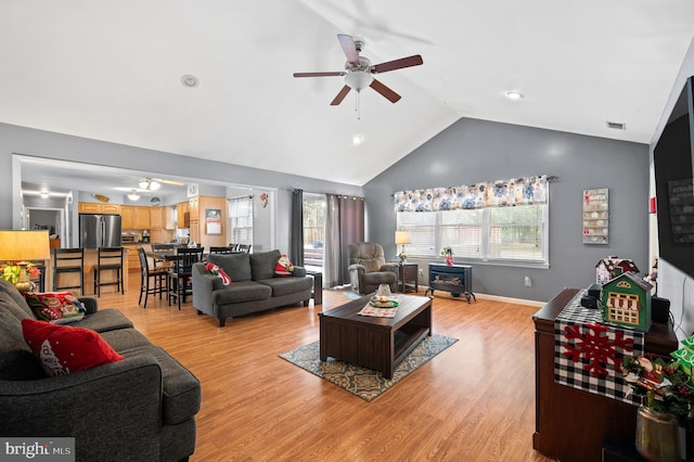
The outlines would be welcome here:
<svg viewBox="0 0 694 462">
<path fill-rule="evenodd" d="M 364 185 L 369 240 L 394 258 L 396 191 L 554 175 L 550 185 L 550 268 L 473 262 L 477 293 L 547 301 L 563 287 L 595 282 L 603 257 L 648 262 L 648 146 L 463 118 Z M 584 189 L 609 189 L 609 244 L 581 242 Z M 457 259 L 457 262 L 464 262 Z M 426 278 L 427 261 L 420 261 Z M 532 279 L 525 287 L 524 277 Z M 426 280 L 424 281 L 426 283 Z"/>
</svg>

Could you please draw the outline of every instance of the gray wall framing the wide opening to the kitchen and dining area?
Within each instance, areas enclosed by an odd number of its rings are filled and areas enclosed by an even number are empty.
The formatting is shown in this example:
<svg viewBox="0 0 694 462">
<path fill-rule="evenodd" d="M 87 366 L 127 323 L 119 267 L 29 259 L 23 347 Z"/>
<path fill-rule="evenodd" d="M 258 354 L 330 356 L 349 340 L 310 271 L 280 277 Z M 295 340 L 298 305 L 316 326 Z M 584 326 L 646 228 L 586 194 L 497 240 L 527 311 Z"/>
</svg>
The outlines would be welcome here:
<svg viewBox="0 0 694 462">
<path fill-rule="evenodd" d="M 288 249 L 291 213 L 288 189 L 299 188 L 319 193 L 362 195 L 361 188 L 352 184 L 314 180 L 278 171 L 203 161 L 160 151 L 0 124 L 0 197 L 3 197 L 2 203 L 4 204 L 3 207 L 0 207 L 0 229 L 22 227 L 18 195 L 21 176 L 17 176 L 16 170 L 13 170 L 13 153 L 98 166 L 134 168 L 163 176 L 196 177 L 229 185 L 277 189 L 275 232 L 277 247 L 280 249 Z M 12 197 L 11 204 L 9 197 Z M 270 243 L 259 242 L 258 245 L 267 248 Z"/>
</svg>

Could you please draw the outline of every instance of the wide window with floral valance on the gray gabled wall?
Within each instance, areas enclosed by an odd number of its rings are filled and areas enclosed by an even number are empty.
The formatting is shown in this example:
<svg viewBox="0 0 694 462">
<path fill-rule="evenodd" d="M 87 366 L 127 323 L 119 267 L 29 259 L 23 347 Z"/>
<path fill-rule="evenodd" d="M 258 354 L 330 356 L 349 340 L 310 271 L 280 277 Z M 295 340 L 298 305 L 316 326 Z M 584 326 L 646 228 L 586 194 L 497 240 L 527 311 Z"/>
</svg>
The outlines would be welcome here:
<svg viewBox="0 0 694 462">
<path fill-rule="evenodd" d="M 472 185 L 400 191 L 397 229 L 410 231 L 411 257 L 440 257 L 451 246 L 458 261 L 549 265 L 547 176 Z"/>
</svg>

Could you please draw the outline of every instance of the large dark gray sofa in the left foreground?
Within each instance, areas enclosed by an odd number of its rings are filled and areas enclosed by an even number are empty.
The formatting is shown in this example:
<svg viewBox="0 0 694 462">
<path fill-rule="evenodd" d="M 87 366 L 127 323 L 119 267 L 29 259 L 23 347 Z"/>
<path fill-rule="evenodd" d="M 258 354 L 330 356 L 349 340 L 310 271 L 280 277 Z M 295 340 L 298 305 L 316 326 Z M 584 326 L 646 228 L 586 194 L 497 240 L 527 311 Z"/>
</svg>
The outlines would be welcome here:
<svg viewBox="0 0 694 462">
<path fill-rule="evenodd" d="M 197 378 L 120 311 L 80 300 L 87 317 L 69 325 L 97 331 L 125 359 L 47 376 L 22 332 L 22 320 L 36 317 L 0 278 L 0 436 L 74 437 L 77 461 L 188 460 Z"/>
</svg>

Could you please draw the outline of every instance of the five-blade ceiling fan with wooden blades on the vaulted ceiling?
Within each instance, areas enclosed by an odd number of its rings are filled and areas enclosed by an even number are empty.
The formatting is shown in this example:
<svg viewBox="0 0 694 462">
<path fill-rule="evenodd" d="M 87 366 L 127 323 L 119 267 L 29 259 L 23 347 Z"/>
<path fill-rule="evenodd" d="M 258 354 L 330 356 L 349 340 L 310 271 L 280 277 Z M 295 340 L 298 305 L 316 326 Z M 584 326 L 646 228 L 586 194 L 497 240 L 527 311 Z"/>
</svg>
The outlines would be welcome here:
<svg viewBox="0 0 694 462">
<path fill-rule="evenodd" d="M 395 61 L 388 61 L 381 64 L 371 64 L 365 56 L 360 56 L 359 53 L 364 47 L 364 40 L 361 38 L 338 34 L 337 40 L 347 56 L 345 63 L 345 70 L 326 72 L 326 73 L 295 73 L 294 77 L 337 77 L 345 76 L 345 86 L 335 99 L 330 103 L 332 106 L 336 106 L 343 102 L 347 93 L 350 90 L 356 90 L 357 95 L 367 87 L 373 88 L 376 92 L 381 93 L 385 99 L 391 103 L 398 102 L 400 95 L 381 81 L 373 78 L 373 74 L 387 73 L 390 70 L 401 69 L 403 67 L 419 66 L 424 63 L 420 54 L 413 56 L 401 57 Z"/>
</svg>

